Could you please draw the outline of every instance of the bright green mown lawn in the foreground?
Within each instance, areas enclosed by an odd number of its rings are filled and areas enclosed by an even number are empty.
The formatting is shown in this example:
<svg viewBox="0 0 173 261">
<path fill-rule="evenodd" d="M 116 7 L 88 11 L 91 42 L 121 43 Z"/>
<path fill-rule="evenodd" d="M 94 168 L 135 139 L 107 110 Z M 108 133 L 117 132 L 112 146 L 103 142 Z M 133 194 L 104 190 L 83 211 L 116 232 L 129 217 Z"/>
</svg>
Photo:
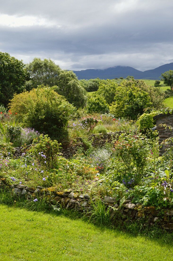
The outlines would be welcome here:
<svg viewBox="0 0 173 261">
<path fill-rule="evenodd" d="M 172 260 L 173 247 L 81 220 L 0 205 L 0 260 Z"/>
</svg>

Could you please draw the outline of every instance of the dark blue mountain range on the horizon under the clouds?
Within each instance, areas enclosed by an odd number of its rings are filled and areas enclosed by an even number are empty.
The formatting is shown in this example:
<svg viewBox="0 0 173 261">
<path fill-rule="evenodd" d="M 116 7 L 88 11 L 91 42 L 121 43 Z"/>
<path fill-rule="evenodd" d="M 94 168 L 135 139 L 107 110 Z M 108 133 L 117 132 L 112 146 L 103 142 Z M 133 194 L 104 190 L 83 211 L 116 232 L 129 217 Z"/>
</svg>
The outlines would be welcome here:
<svg viewBox="0 0 173 261">
<path fill-rule="evenodd" d="M 73 71 L 78 79 L 114 79 L 126 78 L 128 75 L 135 79 L 160 80 L 161 73 L 173 70 L 173 63 L 167 63 L 152 70 L 139 71 L 130 66 L 114 66 L 107 69 L 87 69 L 81 71 Z"/>
</svg>

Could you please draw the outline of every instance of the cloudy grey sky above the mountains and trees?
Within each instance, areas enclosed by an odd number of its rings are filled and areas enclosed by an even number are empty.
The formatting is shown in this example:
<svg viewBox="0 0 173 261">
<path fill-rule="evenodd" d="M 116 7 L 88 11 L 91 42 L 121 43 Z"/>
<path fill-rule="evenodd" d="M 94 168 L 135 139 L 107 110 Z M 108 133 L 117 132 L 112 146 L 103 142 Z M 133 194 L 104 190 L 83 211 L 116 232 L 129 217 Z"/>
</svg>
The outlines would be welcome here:
<svg viewBox="0 0 173 261">
<path fill-rule="evenodd" d="M 0 51 L 62 69 L 173 62 L 171 0 L 0 0 Z"/>
</svg>

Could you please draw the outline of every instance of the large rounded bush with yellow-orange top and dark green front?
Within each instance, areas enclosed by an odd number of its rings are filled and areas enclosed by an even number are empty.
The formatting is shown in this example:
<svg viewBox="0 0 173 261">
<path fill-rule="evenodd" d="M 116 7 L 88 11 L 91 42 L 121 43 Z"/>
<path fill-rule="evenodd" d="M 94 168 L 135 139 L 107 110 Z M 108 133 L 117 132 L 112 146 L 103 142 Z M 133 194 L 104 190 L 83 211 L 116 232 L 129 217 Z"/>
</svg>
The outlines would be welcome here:
<svg viewBox="0 0 173 261">
<path fill-rule="evenodd" d="M 30 92 L 15 95 L 10 109 L 17 112 L 18 119 L 27 127 L 59 141 L 67 139 L 68 119 L 73 114 L 74 107 L 52 88 L 41 85 Z"/>
</svg>

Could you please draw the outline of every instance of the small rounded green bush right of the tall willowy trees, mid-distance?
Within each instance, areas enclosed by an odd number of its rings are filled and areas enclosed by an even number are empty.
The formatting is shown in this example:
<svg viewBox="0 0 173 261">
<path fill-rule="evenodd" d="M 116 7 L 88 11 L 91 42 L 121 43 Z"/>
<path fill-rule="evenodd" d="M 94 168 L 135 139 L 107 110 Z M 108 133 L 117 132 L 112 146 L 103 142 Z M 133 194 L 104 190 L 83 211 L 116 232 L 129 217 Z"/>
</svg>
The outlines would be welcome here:
<svg viewBox="0 0 173 261">
<path fill-rule="evenodd" d="M 109 111 L 108 104 L 102 96 L 91 96 L 87 100 L 86 109 L 88 113 L 105 113 Z"/>
</svg>

